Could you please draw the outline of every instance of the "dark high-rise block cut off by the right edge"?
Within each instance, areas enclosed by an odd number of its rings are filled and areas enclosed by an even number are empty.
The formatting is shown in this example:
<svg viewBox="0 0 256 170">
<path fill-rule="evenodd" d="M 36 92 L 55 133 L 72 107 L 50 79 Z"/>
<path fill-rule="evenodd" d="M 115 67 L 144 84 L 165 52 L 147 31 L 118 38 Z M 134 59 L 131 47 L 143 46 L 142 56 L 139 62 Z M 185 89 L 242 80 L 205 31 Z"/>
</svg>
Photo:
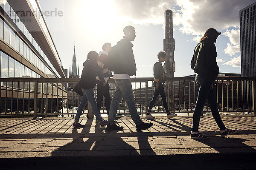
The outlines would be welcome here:
<svg viewBox="0 0 256 170">
<path fill-rule="evenodd" d="M 256 77 L 256 3 L 240 12 L 242 77 Z"/>
</svg>

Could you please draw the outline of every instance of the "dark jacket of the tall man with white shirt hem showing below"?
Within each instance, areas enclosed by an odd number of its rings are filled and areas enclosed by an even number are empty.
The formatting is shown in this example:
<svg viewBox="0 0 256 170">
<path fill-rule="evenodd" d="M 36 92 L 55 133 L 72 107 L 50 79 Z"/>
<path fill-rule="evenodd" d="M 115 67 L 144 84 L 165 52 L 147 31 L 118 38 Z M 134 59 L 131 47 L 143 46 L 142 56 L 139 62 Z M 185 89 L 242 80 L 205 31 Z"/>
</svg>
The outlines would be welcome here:
<svg viewBox="0 0 256 170">
<path fill-rule="evenodd" d="M 109 51 L 108 57 L 113 61 L 114 74 L 128 74 L 136 76 L 136 63 L 133 54 L 133 44 L 127 37 L 117 42 Z"/>
</svg>

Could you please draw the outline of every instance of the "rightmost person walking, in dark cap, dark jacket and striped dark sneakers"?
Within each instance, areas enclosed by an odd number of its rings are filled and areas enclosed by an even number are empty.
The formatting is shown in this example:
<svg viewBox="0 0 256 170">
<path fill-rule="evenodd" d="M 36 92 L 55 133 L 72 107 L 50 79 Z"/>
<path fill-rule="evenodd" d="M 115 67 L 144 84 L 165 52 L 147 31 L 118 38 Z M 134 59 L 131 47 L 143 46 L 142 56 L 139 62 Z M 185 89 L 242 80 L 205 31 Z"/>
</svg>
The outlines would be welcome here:
<svg viewBox="0 0 256 170">
<path fill-rule="evenodd" d="M 209 138 L 209 136 L 198 131 L 200 116 L 206 99 L 208 99 L 210 104 L 212 116 L 221 130 L 221 136 L 227 136 L 237 132 L 237 130 L 231 130 L 225 127 L 218 112 L 217 100 L 212 91 L 212 82 L 215 81 L 219 71 L 216 62 L 217 52 L 214 42 L 216 42 L 220 34 L 221 32 L 216 31 L 214 28 L 207 29 L 198 45 L 195 47 L 194 55 L 191 59 L 190 65 L 194 72 L 197 73 L 195 81 L 199 86 L 198 99 L 193 114 L 193 127 L 190 134 L 192 139 Z"/>
</svg>

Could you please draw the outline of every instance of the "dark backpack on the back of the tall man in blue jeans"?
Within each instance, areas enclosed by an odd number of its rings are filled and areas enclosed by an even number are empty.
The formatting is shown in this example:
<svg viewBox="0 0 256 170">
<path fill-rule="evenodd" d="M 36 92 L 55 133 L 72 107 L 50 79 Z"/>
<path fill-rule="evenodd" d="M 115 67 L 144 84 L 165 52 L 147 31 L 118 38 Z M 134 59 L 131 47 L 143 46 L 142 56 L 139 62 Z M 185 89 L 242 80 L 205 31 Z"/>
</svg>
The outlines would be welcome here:
<svg viewBox="0 0 256 170">
<path fill-rule="evenodd" d="M 105 65 L 109 71 L 115 70 L 116 59 L 119 56 L 119 50 L 117 45 L 113 46 L 108 53 L 108 57 L 106 58 Z"/>
</svg>

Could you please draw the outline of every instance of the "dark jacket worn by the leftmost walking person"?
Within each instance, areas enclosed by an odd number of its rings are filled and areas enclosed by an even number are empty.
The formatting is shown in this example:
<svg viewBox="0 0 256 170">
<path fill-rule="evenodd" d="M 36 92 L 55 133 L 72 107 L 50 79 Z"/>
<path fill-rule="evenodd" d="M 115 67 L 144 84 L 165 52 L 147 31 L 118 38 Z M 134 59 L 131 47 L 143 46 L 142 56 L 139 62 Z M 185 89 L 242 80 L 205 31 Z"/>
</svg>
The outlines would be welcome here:
<svg viewBox="0 0 256 170">
<path fill-rule="evenodd" d="M 86 60 L 83 63 L 83 71 L 81 75 L 81 83 L 79 87 L 90 89 L 95 88 L 96 86 L 96 65 L 93 64 L 90 60 Z"/>
</svg>

